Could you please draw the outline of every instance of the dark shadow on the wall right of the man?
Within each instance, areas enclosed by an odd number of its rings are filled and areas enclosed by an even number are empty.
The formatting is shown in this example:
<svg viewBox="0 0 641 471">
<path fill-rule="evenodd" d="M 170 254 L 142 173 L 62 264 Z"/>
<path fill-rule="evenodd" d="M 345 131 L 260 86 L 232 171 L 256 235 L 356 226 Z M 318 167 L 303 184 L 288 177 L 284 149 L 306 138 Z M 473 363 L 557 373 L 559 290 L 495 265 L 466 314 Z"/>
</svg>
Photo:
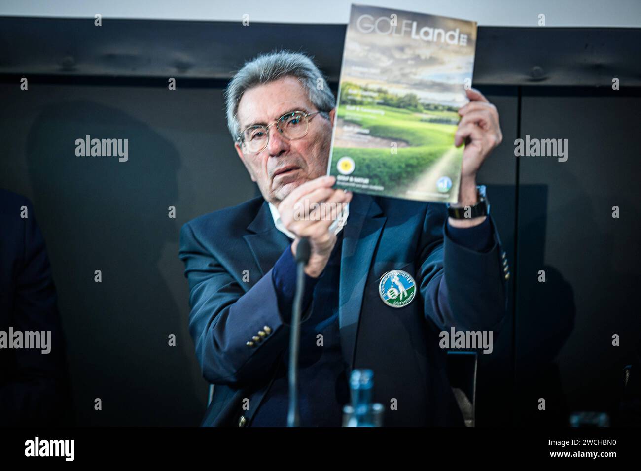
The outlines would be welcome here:
<svg viewBox="0 0 641 471">
<path fill-rule="evenodd" d="M 515 351 L 516 426 L 567 426 L 572 405 L 556 360 L 574 329 L 574 291 L 545 265 L 547 186 L 522 185 L 519 208 L 519 291 Z M 544 270 L 545 282 L 540 282 Z M 542 279 L 542 278 L 540 278 Z M 545 413 L 538 409 L 545 399 Z"/>
</svg>

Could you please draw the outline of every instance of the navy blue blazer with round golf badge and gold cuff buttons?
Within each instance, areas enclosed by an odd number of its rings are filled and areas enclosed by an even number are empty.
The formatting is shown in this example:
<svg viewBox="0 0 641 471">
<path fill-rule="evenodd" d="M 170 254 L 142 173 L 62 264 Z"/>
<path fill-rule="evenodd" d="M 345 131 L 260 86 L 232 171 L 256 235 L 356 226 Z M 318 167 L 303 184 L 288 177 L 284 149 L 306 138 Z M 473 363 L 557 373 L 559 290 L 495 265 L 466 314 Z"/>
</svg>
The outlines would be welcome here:
<svg viewBox="0 0 641 471">
<path fill-rule="evenodd" d="M 374 371 L 374 400 L 387 409 L 385 426 L 462 425 L 438 334 L 453 326 L 491 330 L 496 338 L 505 317 L 498 234 L 490 251 L 474 252 L 444 235 L 446 219 L 444 204 L 354 194 L 349 205 L 338 293 L 340 342 L 347 367 Z M 244 411 L 242 400 L 254 393 L 262 398 L 271 384 L 290 333 L 278 311 L 271 269 L 289 244 L 262 197 L 181 229 L 189 329 L 203 376 L 215 384 L 203 426 L 235 426 L 241 413 L 251 420 L 260 404 Z M 378 293 L 380 277 L 394 269 L 411 274 L 420 288 L 403 308 L 387 306 Z M 264 326 L 269 335 L 249 347 Z M 397 409 L 390 410 L 394 399 Z"/>
</svg>

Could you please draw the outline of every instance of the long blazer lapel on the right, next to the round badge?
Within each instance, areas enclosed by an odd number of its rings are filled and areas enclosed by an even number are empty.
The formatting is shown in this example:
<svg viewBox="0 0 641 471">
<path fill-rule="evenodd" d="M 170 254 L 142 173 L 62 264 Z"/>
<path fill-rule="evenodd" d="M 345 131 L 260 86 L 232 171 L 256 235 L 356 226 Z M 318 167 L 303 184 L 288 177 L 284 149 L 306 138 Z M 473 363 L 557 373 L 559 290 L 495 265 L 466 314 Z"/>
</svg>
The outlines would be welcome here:
<svg viewBox="0 0 641 471">
<path fill-rule="evenodd" d="M 387 217 L 368 195 L 354 194 L 349 203 L 349 217 L 343 230 L 340 258 L 340 289 L 338 318 L 340 345 L 349 370 L 354 365 L 358 320 L 363 304 L 367 275 L 374 258 L 381 231 Z"/>
</svg>

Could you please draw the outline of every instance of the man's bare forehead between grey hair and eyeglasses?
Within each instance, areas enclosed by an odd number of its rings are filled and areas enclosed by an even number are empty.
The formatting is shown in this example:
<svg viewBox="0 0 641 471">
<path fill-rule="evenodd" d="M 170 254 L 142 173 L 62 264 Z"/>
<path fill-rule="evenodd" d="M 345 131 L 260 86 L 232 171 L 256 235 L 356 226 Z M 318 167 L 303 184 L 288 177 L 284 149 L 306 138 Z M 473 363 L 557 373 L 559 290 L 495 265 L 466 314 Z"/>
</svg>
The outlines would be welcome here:
<svg viewBox="0 0 641 471">
<path fill-rule="evenodd" d="M 282 79 L 246 90 L 238 103 L 238 121 L 241 128 L 269 124 L 285 113 L 311 108 L 303 86 L 295 79 Z"/>
</svg>

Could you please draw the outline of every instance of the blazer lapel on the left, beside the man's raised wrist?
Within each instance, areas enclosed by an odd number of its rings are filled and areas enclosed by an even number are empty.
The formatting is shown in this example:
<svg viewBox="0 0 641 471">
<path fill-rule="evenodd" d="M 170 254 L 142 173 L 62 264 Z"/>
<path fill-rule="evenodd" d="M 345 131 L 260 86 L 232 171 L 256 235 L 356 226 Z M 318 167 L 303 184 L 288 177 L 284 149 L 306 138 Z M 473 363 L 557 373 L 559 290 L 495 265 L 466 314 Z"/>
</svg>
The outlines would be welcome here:
<svg viewBox="0 0 641 471">
<path fill-rule="evenodd" d="M 247 226 L 247 230 L 251 234 L 246 234 L 243 238 L 256 260 L 261 277 L 265 276 L 291 241 L 288 236 L 276 229 L 267 202 L 263 202 L 260 206 L 256 218 Z"/>
</svg>

